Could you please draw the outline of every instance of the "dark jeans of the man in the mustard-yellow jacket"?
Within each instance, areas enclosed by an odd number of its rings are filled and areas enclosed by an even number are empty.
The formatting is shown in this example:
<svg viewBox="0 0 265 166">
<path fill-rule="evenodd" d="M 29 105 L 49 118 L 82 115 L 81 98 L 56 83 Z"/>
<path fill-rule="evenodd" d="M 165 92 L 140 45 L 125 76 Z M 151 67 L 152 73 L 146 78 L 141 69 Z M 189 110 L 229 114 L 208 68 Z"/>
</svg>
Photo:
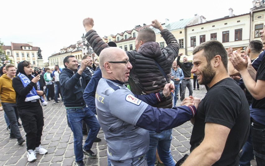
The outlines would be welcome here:
<svg viewBox="0 0 265 166">
<path fill-rule="evenodd" d="M 17 117 L 16 117 L 16 104 L 2 102 L 3 109 L 9 119 L 9 125 L 11 128 L 10 135 L 15 135 L 16 139 L 21 138 L 20 130 L 17 126 Z"/>
</svg>

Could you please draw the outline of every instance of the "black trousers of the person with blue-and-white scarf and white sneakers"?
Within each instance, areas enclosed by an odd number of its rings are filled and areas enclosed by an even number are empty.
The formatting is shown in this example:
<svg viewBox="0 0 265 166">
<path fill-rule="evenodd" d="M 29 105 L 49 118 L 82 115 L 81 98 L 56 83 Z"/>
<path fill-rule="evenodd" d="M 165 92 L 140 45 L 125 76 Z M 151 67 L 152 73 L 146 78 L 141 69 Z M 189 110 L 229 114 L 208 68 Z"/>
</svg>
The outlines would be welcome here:
<svg viewBox="0 0 265 166">
<path fill-rule="evenodd" d="M 35 150 L 40 145 L 44 126 L 42 107 L 21 109 L 18 113 L 26 132 L 27 150 Z"/>
</svg>

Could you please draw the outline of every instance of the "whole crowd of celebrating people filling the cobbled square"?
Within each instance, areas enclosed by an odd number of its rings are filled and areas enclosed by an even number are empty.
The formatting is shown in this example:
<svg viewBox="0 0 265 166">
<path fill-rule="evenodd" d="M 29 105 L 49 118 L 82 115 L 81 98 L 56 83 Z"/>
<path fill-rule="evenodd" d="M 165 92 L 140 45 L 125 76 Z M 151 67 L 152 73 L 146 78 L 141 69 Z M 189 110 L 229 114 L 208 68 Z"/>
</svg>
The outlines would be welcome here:
<svg viewBox="0 0 265 166">
<path fill-rule="evenodd" d="M 124 51 L 100 38 L 92 18 L 85 18 L 83 26 L 98 63 L 93 53 L 84 55 L 81 63 L 67 56 L 63 69 L 55 65 L 33 70 L 28 61 L 17 69 L 12 64 L 0 68 L 0 110 L 5 112 L 10 138 L 19 145 L 25 142 L 21 119 L 29 162 L 36 160 L 36 153 L 48 152 L 41 146 L 42 107 L 54 100 L 52 105 L 63 102 L 66 109 L 75 165 L 84 165 L 84 154 L 97 156 L 91 148 L 101 141 L 100 127 L 109 166 L 153 166 L 156 158 L 168 166 L 241 166 L 250 165 L 253 156 L 258 165 L 265 164 L 265 27 L 260 31 L 262 41 L 250 41 L 245 50 L 226 50 L 221 42 L 210 40 L 197 46 L 188 61 L 179 53 L 174 35 L 157 20 L 151 26 L 164 38 L 163 49 L 151 28 L 138 32 L 136 50 Z M 207 88 L 202 100 L 193 97 L 196 85 L 197 90 L 199 85 Z M 190 154 L 175 163 L 170 154 L 172 128 L 187 121 L 193 124 Z"/>
</svg>

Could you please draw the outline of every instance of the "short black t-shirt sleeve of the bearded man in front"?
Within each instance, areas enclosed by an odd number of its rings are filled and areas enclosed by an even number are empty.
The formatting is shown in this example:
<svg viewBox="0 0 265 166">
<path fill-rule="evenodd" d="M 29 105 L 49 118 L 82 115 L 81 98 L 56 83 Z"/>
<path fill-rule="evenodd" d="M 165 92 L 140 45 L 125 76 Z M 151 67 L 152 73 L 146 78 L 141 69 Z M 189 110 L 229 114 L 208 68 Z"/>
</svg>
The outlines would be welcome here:
<svg viewBox="0 0 265 166">
<path fill-rule="evenodd" d="M 230 129 L 234 126 L 241 107 L 241 101 L 235 94 L 223 87 L 213 88 L 207 93 L 204 101 L 205 122 L 220 124 Z"/>
</svg>

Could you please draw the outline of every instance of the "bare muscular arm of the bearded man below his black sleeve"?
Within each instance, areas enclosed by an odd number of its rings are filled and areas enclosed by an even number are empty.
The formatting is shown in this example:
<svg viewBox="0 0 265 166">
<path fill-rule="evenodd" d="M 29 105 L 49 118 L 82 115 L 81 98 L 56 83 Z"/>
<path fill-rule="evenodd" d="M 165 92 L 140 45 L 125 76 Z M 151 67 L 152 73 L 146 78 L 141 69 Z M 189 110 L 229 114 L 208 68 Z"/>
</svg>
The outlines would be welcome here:
<svg viewBox="0 0 265 166">
<path fill-rule="evenodd" d="M 205 137 L 182 166 L 212 165 L 221 158 L 230 129 L 216 123 L 205 124 Z"/>
</svg>

